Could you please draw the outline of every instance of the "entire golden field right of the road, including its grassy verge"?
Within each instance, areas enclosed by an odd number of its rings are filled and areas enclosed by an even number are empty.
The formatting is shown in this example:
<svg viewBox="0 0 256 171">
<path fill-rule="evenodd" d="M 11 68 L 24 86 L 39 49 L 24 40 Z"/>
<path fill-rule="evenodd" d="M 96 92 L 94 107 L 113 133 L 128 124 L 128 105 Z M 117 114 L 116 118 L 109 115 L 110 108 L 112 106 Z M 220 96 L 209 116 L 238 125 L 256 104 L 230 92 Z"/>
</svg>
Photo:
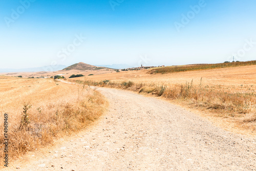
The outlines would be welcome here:
<svg viewBox="0 0 256 171">
<path fill-rule="evenodd" d="M 71 81 L 161 96 L 213 118 L 228 130 L 255 134 L 256 66 L 170 74 L 148 70 L 72 78 Z M 109 82 L 103 80 L 110 80 Z M 228 125 L 228 126 L 227 126 Z"/>
</svg>

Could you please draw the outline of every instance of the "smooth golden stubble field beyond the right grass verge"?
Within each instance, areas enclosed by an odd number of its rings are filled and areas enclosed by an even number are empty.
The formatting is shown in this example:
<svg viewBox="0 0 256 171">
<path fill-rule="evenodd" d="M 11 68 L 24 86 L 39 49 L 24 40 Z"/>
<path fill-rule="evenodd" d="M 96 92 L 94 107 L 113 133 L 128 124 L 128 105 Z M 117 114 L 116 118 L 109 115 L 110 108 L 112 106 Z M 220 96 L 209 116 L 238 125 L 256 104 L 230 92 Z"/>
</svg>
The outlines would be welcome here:
<svg viewBox="0 0 256 171">
<path fill-rule="evenodd" d="M 140 71 L 122 71 L 120 73 L 106 73 L 92 75 L 81 78 L 72 78 L 72 80 L 111 80 L 111 81 L 133 81 L 155 84 L 184 84 L 191 82 L 200 84 L 202 78 L 203 86 L 209 86 L 215 89 L 234 92 L 254 92 L 256 90 L 256 66 L 244 66 L 234 68 L 188 71 L 170 74 L 147 74 L 148 70 Z M 241 86 L 243 85 L 243 86 Z M 251 87 L 252 86 L 252 87 Z"/>
</svg>

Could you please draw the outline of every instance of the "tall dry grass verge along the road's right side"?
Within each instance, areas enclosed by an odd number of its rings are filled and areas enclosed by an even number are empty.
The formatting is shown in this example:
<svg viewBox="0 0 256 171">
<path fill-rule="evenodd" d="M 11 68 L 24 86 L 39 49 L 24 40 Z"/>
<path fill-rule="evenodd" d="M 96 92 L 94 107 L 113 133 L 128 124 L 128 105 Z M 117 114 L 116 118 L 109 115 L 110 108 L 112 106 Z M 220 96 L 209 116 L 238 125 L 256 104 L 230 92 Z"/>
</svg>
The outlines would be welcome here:
<svg viewBox="0 0 256 171">
<path fill-rule="evenodd" d="M 163 97 L 198 109 L 214 112 L 216 117 L 236 119 L 238 124 L 252 131 L 256 130 L 256 94 L 231 93 L 224 89 L 214 89 L 207 85 L 194 84 L 193 80 L 185 84 L 155 84 L 133 81 L 92 81 L 77 80 L 77 83 L 90 86 L 110 87 L 131 90 L 142 94 Z M 242 85 L 241 85 L 242 86 Z"/>
</svg>

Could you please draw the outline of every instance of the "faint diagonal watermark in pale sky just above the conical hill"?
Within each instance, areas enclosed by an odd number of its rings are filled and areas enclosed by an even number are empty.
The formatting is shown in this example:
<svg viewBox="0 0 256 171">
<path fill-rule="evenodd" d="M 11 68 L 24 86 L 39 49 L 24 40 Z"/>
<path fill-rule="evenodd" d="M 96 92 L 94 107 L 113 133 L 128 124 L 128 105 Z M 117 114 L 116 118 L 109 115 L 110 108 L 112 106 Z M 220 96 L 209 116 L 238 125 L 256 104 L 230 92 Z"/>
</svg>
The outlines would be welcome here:
<svg viewBox="0 0 256 171">
<path fill-rule="evenodd" d="M 73 39 L 73 42 L 69 44 L 66 48 L 62 48 L 60 51 L 57 52 L 57 57 L 61 61 L 65 61 L 68 56 L 72 54 L 79 46 L 82 45 L 82 43 L 86 40 L 86 37 L 82 35 L 82 33 L 75 34 L 75 38 Z M 48 72 L 53 72 L 54 69 L 57 68 L 58 61 L 53 60 L 51 62 L 50 66 L 44 67 L 44 71 Z"/>
</svg>

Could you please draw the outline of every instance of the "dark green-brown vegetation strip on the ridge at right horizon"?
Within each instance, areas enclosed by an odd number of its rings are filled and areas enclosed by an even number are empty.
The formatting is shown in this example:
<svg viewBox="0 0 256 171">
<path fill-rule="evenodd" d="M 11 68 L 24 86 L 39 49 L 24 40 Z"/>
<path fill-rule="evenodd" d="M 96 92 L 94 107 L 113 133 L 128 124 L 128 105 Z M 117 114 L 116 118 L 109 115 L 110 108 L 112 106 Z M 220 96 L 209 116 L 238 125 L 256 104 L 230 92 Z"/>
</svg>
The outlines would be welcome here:
<svg viewBox="0 0 256 171">
<path fill-rule="evenodd" d="M 202 64 L 202 65 L 191 65 L 191 66 L 177 66 L 177 67 L 162 67 L 156 68 L 148 71 L 149 74 L 167 74 L 175 72 L 184 72 L 184 71 L 196 71 L 196 70 L 209 70 L 209 69 L 218 69 L 218 68 L 228 68 L 228 67 L 240 67 L 240 66 L 250 66 L 256 65 L 256 60 L 246 61 L 246 62 L 224 62 L 224 63 L 215 63 L 215 64 Z"/>
</svg>

